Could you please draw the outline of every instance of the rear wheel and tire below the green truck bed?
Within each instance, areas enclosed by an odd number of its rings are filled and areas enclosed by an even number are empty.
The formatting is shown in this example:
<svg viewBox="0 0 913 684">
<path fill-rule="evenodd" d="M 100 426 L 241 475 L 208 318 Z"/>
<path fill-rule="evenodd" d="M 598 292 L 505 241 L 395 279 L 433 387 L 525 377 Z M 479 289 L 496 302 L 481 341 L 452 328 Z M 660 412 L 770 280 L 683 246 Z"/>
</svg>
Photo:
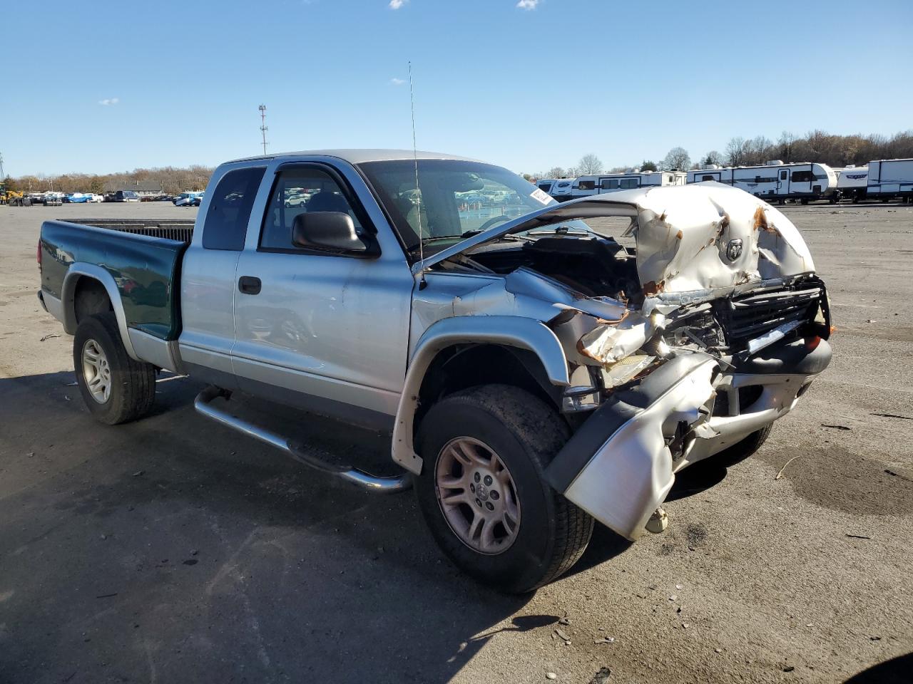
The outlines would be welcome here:
<svg viewBox="0 0 913 684">
<path fill-rule="evenodd" d="M 86 352 L 96 357 L 94 368 L 107 368 L 107 375 L 93 387 L 90 384 L 98 372 L 86 367 Z M 152 409 L 155 367 L 130 358 L 113 312 L 88 316 L 79 323 L 73 339 L 73 368 L 79 392 L 95 420 L 117 425 L 142 418 Z M 102 393 L 105 387 L 107 394 Z"/>
</svg>

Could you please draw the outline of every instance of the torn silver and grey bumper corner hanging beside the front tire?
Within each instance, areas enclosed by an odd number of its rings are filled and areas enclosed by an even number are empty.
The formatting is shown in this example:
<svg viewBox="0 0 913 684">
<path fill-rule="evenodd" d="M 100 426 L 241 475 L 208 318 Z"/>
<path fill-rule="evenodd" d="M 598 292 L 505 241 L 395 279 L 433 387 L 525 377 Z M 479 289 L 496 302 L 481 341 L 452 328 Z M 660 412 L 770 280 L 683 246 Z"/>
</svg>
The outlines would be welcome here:
<svg viewBox="0 0 913 684">
<path fill-rule="evenodd" d="M 716 359 L 685 354 L 635 389 L 616 392 L 551 461 L 547 482 L 600 523 L 636 539 L 675 482 L 668 444 L 678 439 L 687 450 L 688 439 L 698 438 L 718 372 Z"/>
</svg>

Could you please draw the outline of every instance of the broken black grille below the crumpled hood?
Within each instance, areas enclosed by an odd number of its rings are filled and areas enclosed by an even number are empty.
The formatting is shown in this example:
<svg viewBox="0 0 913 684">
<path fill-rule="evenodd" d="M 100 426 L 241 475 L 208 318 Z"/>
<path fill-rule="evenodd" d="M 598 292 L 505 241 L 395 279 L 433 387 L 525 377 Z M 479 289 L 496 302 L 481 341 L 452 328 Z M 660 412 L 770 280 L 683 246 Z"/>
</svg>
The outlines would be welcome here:
<svg viewBox="0 0 913 684">
<path fill-rule="evenodd" d="M 761 295 L 747 295 L 714 302 L 714 314 L 723 328 L 730 350 L 750 339 L 792 321 L 811 321 L 821 297 L 820 287 L 783 288 Z"/>
</svg>

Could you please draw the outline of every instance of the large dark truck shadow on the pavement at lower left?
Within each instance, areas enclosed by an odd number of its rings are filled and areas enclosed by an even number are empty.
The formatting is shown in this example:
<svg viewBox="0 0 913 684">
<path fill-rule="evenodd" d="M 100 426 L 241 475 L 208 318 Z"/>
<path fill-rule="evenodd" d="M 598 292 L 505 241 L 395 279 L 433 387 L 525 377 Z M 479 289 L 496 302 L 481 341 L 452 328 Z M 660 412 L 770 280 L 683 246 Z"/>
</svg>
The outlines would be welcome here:
<svg viewBox="0 0 913 684">
<path fill-rule="evenodd" d="M 492 635 L 558 619 L 509 620 L 528 599 L 443 560 L 411 493 L 359 492 L 203 420 L 188 379 L 112 428 L 72 381 L 0 380 L 0 680 L 446 681 Z M 301 429 L 339 446 L 329 420 Z"/>
</svg>

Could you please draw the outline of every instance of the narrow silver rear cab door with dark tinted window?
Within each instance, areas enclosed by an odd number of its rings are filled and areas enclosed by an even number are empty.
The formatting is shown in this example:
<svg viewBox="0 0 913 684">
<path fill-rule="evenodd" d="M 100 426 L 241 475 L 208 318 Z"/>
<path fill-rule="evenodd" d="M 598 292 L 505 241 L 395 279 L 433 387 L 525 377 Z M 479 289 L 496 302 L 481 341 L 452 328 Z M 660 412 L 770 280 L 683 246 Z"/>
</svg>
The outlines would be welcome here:
<svg viewBox="0 0 913 684">
<path fill-rule="evenodd" d="M 181 358 L 195 377 L 226 389 L 236 387 L 231 365 L 235 269 L 264 171 L 265 167 L 229 170 L 215 183 L 201 207 L 203 222 L 196 222 L 181 268 Z"/>
</svg>

